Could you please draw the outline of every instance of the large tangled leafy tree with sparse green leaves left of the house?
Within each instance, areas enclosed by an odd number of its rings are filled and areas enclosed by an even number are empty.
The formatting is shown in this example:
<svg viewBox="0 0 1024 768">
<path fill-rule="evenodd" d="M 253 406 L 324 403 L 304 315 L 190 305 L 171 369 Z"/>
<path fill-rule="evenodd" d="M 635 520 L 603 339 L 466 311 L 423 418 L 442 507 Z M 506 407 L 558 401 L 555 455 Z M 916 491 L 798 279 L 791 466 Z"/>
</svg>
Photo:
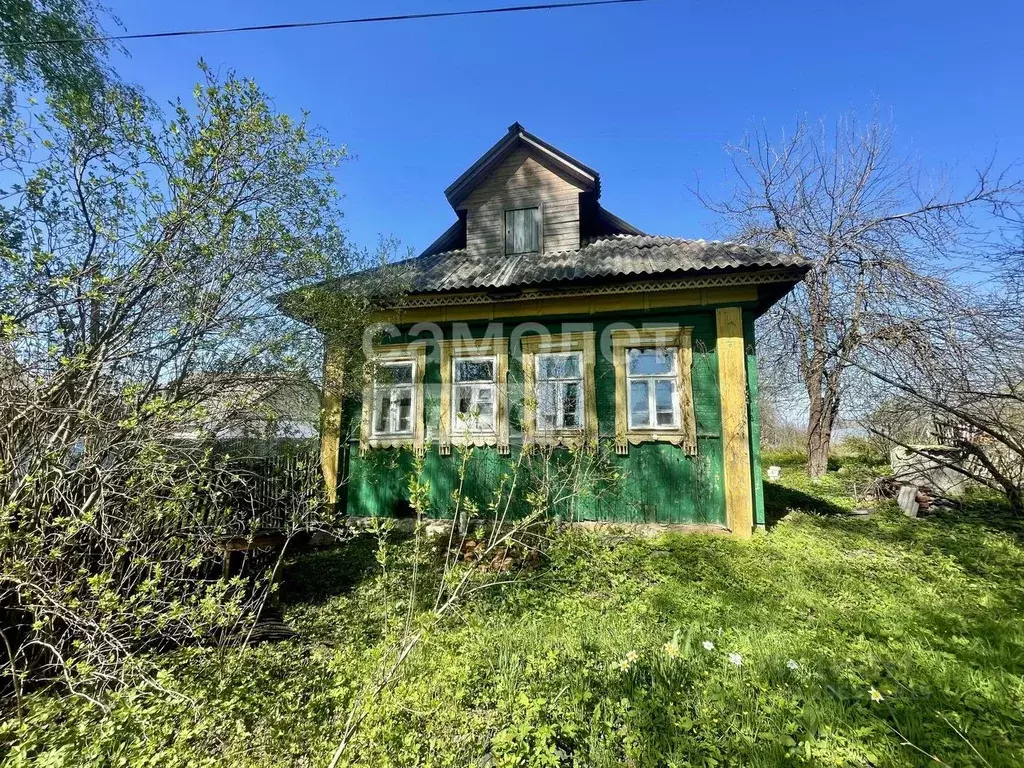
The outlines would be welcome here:
<svg viewBox="0 0 1024 768">
<path fill-rule="evenodd" d="M 230 477 L 181 437 L 239 413 L 225 393 L 318 366 L 278 297 L 361 258 L 344 148 L 201 69 L 166 115 L 112 85 L 88 114 L 54 96 L 2 126 L 0 611 L 15 662 L 73 685 L 247 609 L 251 589 L 209 578 L 204 514 Z M 305 310 L 361 323 L 353 293 L 322 300 Z"/>
</svg>

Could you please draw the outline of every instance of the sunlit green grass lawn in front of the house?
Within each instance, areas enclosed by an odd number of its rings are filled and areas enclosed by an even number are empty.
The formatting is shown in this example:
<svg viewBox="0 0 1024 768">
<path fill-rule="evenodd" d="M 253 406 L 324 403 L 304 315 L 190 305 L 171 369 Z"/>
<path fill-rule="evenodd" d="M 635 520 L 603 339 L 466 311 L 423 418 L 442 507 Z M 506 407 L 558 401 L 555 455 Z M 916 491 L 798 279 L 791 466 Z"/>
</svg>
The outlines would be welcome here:
<svg viewBox="0 0 1024 768">
<path fill-rule="evenodd" d="M 1024 765 L 1024 527 L 994 504 L 850 517 L 871 469 L 795 457 L 767 534 L 568 535 L 479 593 L 374 701 L 342 765 Z M 767 464 L 768 462 L 766 462 Z M 326 765 L 404 618 L 411 546 L 298 556 L 300 637 L 161 659 L 110 712 L 37 694 L 10 765 Z M 873 699 L 872 700 L 872 694 Z"/>
</svg>

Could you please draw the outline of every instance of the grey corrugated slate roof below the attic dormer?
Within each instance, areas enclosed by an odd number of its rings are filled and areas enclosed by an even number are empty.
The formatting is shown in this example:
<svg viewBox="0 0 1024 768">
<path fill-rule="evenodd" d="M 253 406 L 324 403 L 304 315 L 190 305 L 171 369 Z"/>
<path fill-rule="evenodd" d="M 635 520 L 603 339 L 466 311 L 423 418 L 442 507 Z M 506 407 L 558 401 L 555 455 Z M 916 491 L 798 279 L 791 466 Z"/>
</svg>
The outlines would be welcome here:
<svg viewBox="0 0 1024 768">
<path fill-rule="evenodd" d="M 799 256 L 739 243 L 649 234 L 601 238 L 575 251 L 471 256 L 465 249 L 391 265 L 411 293 L 502 290 L 541 284 L 688 272 L 806 267 Z"/>
</svg>

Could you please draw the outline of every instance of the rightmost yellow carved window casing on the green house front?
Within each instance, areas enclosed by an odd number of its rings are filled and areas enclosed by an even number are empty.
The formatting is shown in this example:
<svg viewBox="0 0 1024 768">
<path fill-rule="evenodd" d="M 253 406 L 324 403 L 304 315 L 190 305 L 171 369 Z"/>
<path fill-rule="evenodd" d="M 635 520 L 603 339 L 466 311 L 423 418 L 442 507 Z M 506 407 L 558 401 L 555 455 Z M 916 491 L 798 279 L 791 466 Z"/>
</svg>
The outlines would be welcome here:
<svg viewBox="0 0 1024 768">
<path fill-rule="evenodd" d="M 630 443 L 671 442 L 696 454 L 691 328 L 612 331 L 615 453 Z"/>
</svg>

